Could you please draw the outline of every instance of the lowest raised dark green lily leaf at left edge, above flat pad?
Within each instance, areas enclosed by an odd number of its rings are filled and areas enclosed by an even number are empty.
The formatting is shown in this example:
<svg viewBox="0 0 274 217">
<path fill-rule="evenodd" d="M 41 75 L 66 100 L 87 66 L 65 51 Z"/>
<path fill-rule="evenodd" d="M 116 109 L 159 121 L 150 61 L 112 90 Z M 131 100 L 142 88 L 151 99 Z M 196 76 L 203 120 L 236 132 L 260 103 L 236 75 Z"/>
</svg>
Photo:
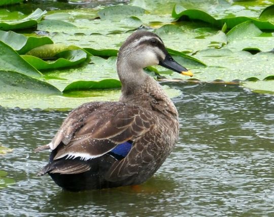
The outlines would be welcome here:
<svg viewBox="0 0 274 217">
<path fill-rule="evenodd" d="M 45 95 L 61 94 L 60 90 L 49 83 L 18 72 L 3 70 L 0 71 L 0 92 L 2 94 L 23 92 L 36 92 Z M 8 95 L 6 97 L 8 97 Z"/>
</svg>

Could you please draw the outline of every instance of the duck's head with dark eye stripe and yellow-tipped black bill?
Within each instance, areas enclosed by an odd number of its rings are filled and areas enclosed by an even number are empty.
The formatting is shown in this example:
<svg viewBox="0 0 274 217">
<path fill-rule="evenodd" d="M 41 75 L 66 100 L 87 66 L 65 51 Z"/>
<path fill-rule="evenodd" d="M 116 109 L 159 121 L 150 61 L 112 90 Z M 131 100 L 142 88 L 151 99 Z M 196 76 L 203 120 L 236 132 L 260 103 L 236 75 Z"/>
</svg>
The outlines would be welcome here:
<svg viewBox="0 0 274 217">
<path fill-rule="evenodd" d="M 154 33 L 138 31 L 127 38 L 119 50 L 117 66 L 128 71 L 138 71 L 148 66 L 160 65 L 183 75 L 192 73 L 178 64 Z"/>
</svg>

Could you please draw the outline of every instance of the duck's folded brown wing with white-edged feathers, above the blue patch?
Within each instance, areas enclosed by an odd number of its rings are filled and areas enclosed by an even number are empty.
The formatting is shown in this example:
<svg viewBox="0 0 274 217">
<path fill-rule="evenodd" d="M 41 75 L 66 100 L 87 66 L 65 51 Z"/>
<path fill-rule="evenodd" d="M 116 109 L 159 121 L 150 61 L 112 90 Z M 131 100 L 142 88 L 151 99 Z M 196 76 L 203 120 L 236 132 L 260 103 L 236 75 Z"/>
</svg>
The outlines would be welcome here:
<svg viewBox="0 0 274 217">
<path fill-rule="evenodd" d="M 88 103 L 73 110 L 49 144 L 57 148 L 53 160 L 98 158 L 117 145 L 133 141 L 153 129 L 156 117 L 139 106 Z"/>
</svg>

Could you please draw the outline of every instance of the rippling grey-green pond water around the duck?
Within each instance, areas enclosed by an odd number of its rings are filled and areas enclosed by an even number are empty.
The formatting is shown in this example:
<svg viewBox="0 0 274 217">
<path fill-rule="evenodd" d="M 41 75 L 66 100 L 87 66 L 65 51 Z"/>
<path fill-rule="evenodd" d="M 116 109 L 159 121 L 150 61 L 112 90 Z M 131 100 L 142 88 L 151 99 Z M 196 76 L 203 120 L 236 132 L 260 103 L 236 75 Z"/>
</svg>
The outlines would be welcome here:
<svg viewBox="0 0 274 217">
<path fill-rule="evenodd" d="M 36 173 L 67 112 L 0 108 L 0 216 L 274 216 L 274 97 L 234 85 L 165 83 L 181 132 L 160 170 L 139 189 L 64 192 Z"/>
</svg>

